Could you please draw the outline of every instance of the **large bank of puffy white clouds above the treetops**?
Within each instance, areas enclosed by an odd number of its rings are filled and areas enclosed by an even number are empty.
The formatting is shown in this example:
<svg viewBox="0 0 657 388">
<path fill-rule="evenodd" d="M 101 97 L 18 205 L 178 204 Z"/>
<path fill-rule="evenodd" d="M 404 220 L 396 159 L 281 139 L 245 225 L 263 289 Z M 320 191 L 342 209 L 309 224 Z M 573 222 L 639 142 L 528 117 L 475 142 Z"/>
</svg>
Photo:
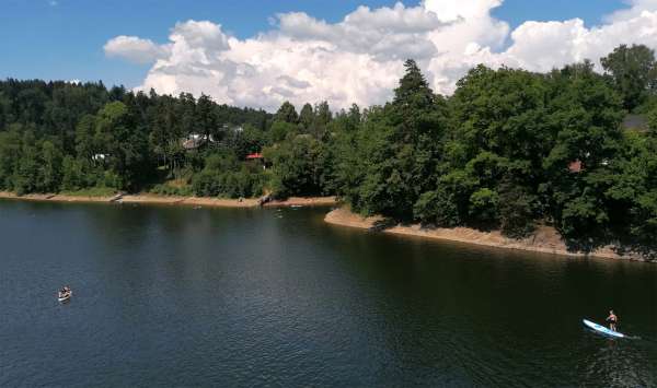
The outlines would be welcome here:
<svg viewBox="0 0 657 388">
<path fill-rule="evenodd" d="M 382 104 L 414 58 L 438 93 L 451 93 L 479 63 L 548 71 L 595 62 L 620 44 L 657 48 L 657 0 L 631 0 L 587 27 L 579 19 L 528 21 L 514 31 L 492 15 L 503 0 L 424 0 L 417 7 L 359 7 L 338 23 L 302 12 L 276 15 L 246 39 L 209 21 L 177 23 L 169 42 L 117 36 L 105 52 L 152 63 L 140 90 L 209 94 L 218 103 L 276 109 L 327 99 L 334 108 Z"/>
</svg>

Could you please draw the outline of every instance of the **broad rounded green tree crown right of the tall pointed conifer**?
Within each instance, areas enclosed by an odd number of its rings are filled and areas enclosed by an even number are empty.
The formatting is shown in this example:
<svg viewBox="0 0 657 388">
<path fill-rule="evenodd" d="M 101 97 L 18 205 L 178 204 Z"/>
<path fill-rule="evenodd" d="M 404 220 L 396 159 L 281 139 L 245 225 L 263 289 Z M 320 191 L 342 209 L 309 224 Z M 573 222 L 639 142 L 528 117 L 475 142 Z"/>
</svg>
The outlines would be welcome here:
<svg viewBox="0 0 657 388">
<path fill-rule="evenodd" d="M 545 117 L 546 99 L 545 80 L 538 74 L 484 66 L 472 69 L 458 82 L 450 102 L 456 141 L 464 151 L 457 156 L 470 160 L 486 151 L 540 168 L 554 137 Z"/>
</svg>

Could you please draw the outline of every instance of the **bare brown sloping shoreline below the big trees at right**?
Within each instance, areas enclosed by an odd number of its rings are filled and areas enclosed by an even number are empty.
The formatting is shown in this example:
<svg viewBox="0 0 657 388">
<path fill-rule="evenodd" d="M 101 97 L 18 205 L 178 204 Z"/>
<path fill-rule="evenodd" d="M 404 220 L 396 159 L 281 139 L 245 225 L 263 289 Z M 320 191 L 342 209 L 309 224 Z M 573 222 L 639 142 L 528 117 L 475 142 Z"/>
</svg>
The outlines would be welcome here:
<svg viewBox="0 0 657 388">
<path fill-rule="evenodd" d="M 332 210 L 324 217 L 324 221 L 328 224 L 360 230 L 371 230 L 377 222 L 381 222 L 382 220 L 383 219 L 381 216 L 362 217 L 345 208 Z M 612 247 L 599 248 L 589 254 L 570 251 L 561 239 L 561 236 L 556 230 L 550 226 L 539 226 L 531 236 L 523 239 L 505 237 L 499 231 L 481 232 L 469 227 L 424 228 L 420 225 L 396 225 L 385 228 L 382 232 L 394 235 L 415 236 L 428 239 L 464 243 L 500 249 L 526 250 L 549 255 L 657 262 L 656 260 L 652 260 L 638 255 L 619 255 L 612 249 Z"/>
</svg>

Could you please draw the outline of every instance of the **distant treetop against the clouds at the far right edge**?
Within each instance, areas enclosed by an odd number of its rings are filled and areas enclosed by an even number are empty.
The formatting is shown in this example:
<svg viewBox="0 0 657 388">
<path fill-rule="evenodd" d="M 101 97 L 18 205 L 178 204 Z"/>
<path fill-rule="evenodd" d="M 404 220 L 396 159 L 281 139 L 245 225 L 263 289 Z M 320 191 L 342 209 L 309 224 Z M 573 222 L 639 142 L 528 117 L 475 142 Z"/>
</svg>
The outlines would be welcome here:
<svg viewBox="0 0 657 388">
<path fill-rule="evenodd" d="M 621 45 L 601 58 L 600 62 L 621 94 L 623 106 L 630 111 L 641 105 L 657 86 L 655 51 L 644 45 Z"/>
</svg>

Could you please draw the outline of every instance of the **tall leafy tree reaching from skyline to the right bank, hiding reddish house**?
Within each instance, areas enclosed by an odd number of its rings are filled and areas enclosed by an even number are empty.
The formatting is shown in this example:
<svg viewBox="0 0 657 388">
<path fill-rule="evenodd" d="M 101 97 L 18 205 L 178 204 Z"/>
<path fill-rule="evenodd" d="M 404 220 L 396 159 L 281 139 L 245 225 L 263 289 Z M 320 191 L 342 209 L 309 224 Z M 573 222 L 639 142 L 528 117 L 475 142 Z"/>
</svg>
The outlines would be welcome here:
<svg viewBox="0 0 657 388">
<path fill-rule="evenodd" d="M 611 161 L 622 145 L 622 102 L 590 63 L 568 66 L 550 78 L 548 122 L 556 133 L 543 162 L 541 195 L 565 238 L 590 249 L 609 237 L 613 203 Z M 568 169 L 578 161 L 579 172 Z"/>
</svg>

